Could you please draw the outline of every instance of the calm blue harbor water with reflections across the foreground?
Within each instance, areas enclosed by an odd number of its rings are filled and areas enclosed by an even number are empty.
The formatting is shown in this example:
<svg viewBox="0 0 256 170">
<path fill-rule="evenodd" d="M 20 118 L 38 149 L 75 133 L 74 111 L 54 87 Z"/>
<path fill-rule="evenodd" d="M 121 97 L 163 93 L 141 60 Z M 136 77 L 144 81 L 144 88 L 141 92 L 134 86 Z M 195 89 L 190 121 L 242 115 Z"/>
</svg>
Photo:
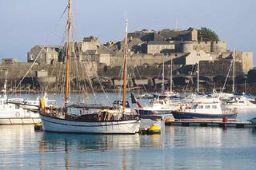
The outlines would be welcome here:
<svg viewBox="0 0 256 170">
<path fill-rule="evenodd" d="M 238 113 L 241 121 L 250 117 L 256 117 L 255 111 Z M 1 125 L 0 134 L 0 169 L 255 169 L 256 166 L 256 128 L 162 123 L 161 134 L 91 135 L 34 132 L 33 125 Z"/>
</svg>

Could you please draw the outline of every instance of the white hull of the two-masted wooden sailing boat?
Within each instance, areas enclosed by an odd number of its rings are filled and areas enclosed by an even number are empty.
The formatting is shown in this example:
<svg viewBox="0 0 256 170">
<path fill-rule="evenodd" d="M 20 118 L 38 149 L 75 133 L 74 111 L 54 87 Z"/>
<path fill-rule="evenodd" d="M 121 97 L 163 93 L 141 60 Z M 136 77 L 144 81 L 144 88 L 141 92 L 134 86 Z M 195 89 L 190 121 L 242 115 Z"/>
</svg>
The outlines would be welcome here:
<svg viewBox="0 0 256 170">
<path fill-rule="evenodd" d="M 61 118 L 40 115 L 42 128 L 49 132 L 84 132 L 134 134 L 139 131 L 140 121 L 68 121 Z"/>
</svg>

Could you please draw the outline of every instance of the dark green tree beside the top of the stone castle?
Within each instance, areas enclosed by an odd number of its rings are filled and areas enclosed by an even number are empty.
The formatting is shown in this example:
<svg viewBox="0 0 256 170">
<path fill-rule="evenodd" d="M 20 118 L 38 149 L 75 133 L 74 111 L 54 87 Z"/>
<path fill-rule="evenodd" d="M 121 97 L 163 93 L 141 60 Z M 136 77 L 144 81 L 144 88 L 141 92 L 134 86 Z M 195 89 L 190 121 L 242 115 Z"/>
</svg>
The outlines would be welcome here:
<svg viewBox="0 0 256 170">
<path fill-rule="evenodd" d="M 201 30 L 198 30 L 198 40 L 202 42 L 218 42 L 218 35 L 214 30 L 210 30 L 206 27 L 201 27 Z"/>
</svg>

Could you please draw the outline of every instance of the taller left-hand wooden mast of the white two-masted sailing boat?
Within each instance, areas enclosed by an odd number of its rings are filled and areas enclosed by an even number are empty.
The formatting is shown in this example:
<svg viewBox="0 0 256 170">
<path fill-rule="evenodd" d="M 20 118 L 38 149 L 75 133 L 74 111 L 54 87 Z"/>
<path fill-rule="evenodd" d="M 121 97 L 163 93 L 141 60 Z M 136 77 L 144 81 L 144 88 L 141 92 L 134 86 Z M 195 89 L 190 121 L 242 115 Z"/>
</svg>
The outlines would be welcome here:
<svg viewBox="0 0 256 170">
<path fill-rule="evenodd" d="M 67 42 L 66 42 L 66 78 L 65 78 L 65 104 L 70 100 L 70 31 L 72 19 L 71 0 L 68 2 L 68 19 L 67 19 Z"/>
</svg>

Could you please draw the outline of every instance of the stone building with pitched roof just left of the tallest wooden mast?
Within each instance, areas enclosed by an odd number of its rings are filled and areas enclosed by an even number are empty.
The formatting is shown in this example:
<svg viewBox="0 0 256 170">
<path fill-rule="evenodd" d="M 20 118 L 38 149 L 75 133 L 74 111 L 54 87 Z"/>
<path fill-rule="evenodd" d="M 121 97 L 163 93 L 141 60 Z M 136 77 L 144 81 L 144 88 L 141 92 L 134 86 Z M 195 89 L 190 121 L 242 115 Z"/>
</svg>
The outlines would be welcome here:
<svg viewBox="0 0 256 170">
<path fill-rule="evenodd" d="M 27 61 L 36 62 L 40 64 L 52 64 L 61 61 L 62 45 L 35 45 L 27 53 Z"/>
</svg>

